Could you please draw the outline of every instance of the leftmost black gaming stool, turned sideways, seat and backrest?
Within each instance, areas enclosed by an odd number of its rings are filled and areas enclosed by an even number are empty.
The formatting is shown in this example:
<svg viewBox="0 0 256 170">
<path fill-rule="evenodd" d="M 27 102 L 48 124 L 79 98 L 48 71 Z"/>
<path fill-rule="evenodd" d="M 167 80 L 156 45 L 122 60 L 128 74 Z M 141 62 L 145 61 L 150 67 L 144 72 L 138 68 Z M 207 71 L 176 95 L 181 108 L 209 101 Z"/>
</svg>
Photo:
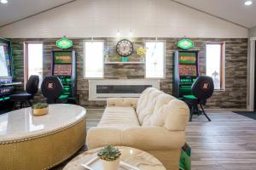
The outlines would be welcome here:
<svg viewBox="0 0 256 170">
<path fill-rule="evenodd" d="M 32 75 L 26 82 L 26 93 L 11 94 L 9 96 L 11 101 L 15 102 L 15 106 L 20 102 L 20 109 L 26 104 L 26 102 L 32 106 L 31 100 L 34 99 L 35 94 L 38 93 L 39 77 Z"/>
</svg>

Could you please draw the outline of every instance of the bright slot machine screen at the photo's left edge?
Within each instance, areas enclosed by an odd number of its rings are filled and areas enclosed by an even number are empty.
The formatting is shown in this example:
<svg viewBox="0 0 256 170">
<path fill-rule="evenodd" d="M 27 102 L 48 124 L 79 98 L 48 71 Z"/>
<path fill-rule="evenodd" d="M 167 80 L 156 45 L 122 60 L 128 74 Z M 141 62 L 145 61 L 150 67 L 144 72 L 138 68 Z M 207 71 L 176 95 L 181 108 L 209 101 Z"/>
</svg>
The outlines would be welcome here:
<svg viewBox="0 0 256 170">
<path fill-rule="evenodd" d="M 11 77 L 9 43 L 0 41 L 0 77 Z"/>
</svg>

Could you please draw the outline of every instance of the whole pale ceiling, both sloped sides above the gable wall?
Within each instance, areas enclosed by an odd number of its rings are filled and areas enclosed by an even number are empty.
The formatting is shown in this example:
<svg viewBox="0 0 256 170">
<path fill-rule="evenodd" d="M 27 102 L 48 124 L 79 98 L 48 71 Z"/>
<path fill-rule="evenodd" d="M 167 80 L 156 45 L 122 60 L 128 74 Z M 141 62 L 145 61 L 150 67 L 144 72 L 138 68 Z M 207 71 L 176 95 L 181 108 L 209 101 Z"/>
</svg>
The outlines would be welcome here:
<svg viewBox="0 0 256 170">
<path fill-rule="evenodd" d="M 16 20 L 24 19 L 38 14 L 49 8 L 55 8 L 75 0 L 9 0 L 9 3 L 0 3 L 0 26 L 7 25 Z M 81 1 L 81 0 L 80 0 Z M 82 0 L 83 1 L 83 0 Z M 124 0 L 117 0 L 122 2 Z M 151 0 L 160 1 L 160 0 Z M 256 0 L 253 5 L 245 6 L 245 0 L 170 0 L 195 10 L 201 10 L 237 25 L 251 28 L 256 26 Z"/>
</svg>

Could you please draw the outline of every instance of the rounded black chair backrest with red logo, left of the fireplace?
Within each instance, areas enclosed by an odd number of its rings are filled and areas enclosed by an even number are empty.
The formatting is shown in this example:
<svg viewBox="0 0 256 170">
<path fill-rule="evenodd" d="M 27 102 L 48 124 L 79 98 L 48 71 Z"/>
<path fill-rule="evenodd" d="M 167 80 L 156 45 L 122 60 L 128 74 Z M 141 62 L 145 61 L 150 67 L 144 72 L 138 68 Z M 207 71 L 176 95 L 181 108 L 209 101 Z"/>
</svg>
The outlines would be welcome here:
<svg viewBox="0 0 256 170">
<path fill-rule="evenodd" d="M 41 91 L 45 98 L 49 100 L 49 103 L 55 103 L 63 91 L 63 85 L 59 77 L 50 76 L 45 77 L 42 85 Z"/>
</svg>

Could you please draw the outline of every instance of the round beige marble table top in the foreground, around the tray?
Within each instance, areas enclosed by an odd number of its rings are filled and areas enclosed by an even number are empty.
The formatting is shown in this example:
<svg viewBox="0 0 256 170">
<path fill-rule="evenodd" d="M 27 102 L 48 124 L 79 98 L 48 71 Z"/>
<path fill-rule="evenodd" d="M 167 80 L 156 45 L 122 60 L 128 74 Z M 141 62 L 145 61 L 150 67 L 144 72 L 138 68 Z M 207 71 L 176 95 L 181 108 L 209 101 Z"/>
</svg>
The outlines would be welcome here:
<svg viewBox="0 0 256 170">
<path fill-rule="evenodd" d="M 131 147 L 117 146 L 122 152 L 120 156 L 120 161 L 124 161 L 131 166 L 137 167 L 141 170 L 166 170 L 166 167 L 154 156 L 150 155 L 148 152 L 143 150 L 137 150 Z M 102 148 L 96 148 L 94 150 L 88 150 L 73 158 L 72 161 L 69 161 L 66 167 L 63 170 L 85 170 L 85 167 L 82 167 L 81 164 L 92 160 L 96 157 L 98 150 Z M 100 169 L 94 169 L 100 170 Z"/>
</svg>

